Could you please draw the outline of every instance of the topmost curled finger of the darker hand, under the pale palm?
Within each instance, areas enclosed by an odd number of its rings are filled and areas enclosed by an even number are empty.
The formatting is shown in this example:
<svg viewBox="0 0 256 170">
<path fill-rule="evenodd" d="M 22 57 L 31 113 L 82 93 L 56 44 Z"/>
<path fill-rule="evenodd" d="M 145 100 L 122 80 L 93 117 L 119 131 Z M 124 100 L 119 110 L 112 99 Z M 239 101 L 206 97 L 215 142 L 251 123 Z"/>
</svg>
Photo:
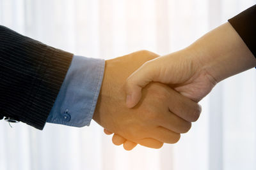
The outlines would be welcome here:
<svg viewBox="0 0 256 170">
<path fill-rule="evenodd" d="M 201 106 L 188 97 L 182 96 L 179 92 L 169 89 L 170 98 L 168 101 L 169 110 L 175 115 L 188 122 L 195 122 L 202 111 Z"/>
</svg>

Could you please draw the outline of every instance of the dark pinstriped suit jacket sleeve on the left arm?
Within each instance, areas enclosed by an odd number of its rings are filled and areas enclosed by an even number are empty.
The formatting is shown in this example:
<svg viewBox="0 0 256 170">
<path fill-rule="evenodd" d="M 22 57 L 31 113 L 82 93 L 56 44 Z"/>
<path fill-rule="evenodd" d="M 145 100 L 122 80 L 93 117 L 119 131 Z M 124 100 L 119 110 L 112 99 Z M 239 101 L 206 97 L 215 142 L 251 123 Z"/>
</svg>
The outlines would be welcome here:
<svg viewBox="0 0 256 170">
<path fill-rule="evenodd" d="M 0 114 L 44 128 L 72 53 L 0 25 Z"/>
</svg>

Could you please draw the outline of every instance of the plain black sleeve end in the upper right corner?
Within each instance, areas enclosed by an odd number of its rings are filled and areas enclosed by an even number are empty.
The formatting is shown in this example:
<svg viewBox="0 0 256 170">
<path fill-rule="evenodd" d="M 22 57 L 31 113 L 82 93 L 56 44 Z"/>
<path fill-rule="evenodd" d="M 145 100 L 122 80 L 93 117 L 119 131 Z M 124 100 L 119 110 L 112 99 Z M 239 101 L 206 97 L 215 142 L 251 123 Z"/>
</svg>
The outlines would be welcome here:
<svg viewBox="0 0 256 170">
<path fill-rule="evenodd" d="M 229 19 L 228 22 L 256 57 L 256 5 Z"/>
</svg>

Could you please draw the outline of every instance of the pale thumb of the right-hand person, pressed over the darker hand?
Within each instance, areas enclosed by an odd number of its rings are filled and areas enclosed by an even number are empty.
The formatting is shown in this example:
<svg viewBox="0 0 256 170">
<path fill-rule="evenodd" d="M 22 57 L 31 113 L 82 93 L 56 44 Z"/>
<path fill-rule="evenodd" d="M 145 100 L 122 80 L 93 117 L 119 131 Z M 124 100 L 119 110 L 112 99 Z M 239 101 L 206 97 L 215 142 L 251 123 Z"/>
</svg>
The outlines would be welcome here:
<svg viewBox="0 0 256 170">
<path fill-rule="evenodd" d="M 145 62 L 139 69 L 127 78 L 125 83 L 126 106 L 133 108 L 141 99 L 141 89 L 150 81 L 153 81 L 157 74 L 156 67 L 151 66 L 150 62 Z"/>
</svg>

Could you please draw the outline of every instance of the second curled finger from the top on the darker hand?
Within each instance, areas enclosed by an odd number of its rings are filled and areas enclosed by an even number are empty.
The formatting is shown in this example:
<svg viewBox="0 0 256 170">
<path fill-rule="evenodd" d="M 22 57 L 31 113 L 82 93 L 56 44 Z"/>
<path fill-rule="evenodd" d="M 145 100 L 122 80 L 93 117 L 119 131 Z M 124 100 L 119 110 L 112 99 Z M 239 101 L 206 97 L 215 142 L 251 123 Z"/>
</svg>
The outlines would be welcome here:
<svg viewBox="0 0 256 170">
<path fill-rule="evenodd" d="M 166 111 L 159 119 L 159 125 L 175 133 L 186 133 L 191 129 L 191 122 Z"/>
</svg>

